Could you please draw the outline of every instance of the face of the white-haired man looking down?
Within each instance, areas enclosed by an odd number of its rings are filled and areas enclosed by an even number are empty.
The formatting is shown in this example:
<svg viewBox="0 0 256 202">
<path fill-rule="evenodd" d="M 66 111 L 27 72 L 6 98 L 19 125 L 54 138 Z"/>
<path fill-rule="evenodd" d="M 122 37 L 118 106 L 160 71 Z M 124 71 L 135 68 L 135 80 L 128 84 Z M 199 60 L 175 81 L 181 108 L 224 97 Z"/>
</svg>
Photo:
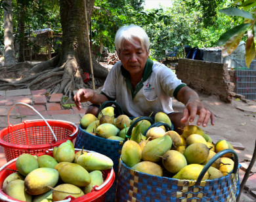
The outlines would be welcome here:
<svg viewBox="0 0 256 202">
<path fill-rule="evenodd" d="M 146 47 L 141 46 L 138 38 L 134 38 L 133 43 L 126 40 L 123 41 L 123 46 L 119 51 L 118 56 L 125 70 L 129 71 L 131 75 L 135 73 L 143 73 L 144 66 L 148 60 Z"/>
</svg>

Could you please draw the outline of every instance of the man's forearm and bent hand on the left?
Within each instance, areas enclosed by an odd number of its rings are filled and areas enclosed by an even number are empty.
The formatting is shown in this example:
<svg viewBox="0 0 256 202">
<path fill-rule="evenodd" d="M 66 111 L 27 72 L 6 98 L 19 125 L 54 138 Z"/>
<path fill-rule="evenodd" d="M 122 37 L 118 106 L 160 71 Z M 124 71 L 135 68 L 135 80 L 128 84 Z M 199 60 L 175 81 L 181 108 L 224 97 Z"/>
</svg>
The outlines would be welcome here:
<svg viewBox="0 0 256 202">
<path fill-rule="evenodd" d="M 74 96 L 75 106 L 81 110 L 81 102 L 91 102 L 92 104 L 102 104 L 108 101 L 104 94 L 96 94 L 92 89 L 79 89 Z"/>
</svg>

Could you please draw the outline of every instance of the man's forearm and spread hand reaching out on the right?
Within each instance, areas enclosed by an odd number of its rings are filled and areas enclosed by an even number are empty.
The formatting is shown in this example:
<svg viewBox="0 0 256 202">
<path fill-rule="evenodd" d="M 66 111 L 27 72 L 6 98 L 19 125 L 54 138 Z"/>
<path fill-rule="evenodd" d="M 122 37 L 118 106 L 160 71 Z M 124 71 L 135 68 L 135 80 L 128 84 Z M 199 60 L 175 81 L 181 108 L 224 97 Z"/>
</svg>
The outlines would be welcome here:
<svg viewBox="0 0 256 202">
<path fill-rule="evenodd" d="M 209 119 L 211 119 L 211 125 L 215 125 L 215 115 L 205 108 L 198 94 L 190 87 L 182 87 L 177 94 L 177 99 L 185 105 L 181 123 L 186 123 L 186 121 L 192 123 L 196 115 L 199 115 L 196 123 L 198 126 L 202 124 L 206 127 Z"/>
</svg>

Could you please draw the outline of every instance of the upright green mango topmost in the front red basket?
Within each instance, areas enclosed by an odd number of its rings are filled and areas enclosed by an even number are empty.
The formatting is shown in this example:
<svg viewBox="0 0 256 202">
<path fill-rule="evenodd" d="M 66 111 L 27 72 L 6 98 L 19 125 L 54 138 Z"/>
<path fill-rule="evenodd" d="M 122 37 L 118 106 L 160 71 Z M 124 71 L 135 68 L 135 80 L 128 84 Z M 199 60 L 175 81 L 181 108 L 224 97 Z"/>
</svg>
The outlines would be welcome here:
<svg viewBox="0 0 256 202">
<path fill-rule="evenodd" d="M 63 142 L 58 146 L 55 154 L 53 153 L 54 159 L 60 162 L 73 162 L 75 158 L 74 145 L 70 140 Z"/>
</svg>

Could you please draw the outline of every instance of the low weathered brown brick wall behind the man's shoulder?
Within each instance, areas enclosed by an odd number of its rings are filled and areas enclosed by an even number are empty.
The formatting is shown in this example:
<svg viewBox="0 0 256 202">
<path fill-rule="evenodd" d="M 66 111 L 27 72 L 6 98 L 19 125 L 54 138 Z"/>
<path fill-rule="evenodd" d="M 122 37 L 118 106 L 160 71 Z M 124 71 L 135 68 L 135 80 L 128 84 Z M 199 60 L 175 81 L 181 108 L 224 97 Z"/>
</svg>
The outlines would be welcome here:
<svg viewBox="0 0 256 202">
<path fill-rule="evenodd" d="M 192 89 L 215 94 L 224 102 L 231 102 L 236 94 L 234 77 L 230 77 L 227 64 L 180 58 L 176 74 Z"/>
</svg>

